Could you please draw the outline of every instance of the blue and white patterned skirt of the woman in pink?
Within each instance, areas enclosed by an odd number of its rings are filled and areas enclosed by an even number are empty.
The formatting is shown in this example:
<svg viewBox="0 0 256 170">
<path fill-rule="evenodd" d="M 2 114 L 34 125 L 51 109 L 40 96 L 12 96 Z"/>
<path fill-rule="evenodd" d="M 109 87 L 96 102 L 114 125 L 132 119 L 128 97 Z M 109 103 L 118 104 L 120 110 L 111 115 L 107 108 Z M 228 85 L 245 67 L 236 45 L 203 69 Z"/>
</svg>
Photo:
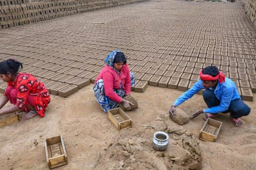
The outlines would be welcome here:
<svg viewBox="0 0 256 170">
<path fill-rule="evenodd" d="M 135 75 L 133 72 L 130 72 L 130 78 L 131 78 L 131 86 L 134 86 L 135 84 Z M 94 90 L 94 96 L 97 99 L 98 103 L 100 104 L 102 110 L 107 113 L 109 109 L 117 108 L 119 107 L 119 103 L 111 100 L 105 95 L 104 91 L 104 83 L 103 80 L 100 79 L 96 82 L 96 84 L 93 87 Z M 121 88 L 120 89 L 113 89 L 114 92 L 120 96 L 124 97 L 125 96 L 125 91 L 123 89 L 122 83 L 121 83 Z"/>
</svg>

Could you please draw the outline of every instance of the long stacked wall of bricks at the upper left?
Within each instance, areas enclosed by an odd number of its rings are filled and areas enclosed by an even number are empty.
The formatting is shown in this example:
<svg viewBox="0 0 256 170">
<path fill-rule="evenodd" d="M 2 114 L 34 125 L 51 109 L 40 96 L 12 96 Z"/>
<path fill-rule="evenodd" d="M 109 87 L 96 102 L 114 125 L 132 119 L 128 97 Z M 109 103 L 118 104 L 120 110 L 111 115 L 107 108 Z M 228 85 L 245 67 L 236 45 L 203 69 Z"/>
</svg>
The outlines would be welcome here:
<svg viewBox="0 0 256 170">
<path fill-rule="evenodd" d="M 0 0 L 0 29 L 147 0 L 31 1 Z"/>
</svg>

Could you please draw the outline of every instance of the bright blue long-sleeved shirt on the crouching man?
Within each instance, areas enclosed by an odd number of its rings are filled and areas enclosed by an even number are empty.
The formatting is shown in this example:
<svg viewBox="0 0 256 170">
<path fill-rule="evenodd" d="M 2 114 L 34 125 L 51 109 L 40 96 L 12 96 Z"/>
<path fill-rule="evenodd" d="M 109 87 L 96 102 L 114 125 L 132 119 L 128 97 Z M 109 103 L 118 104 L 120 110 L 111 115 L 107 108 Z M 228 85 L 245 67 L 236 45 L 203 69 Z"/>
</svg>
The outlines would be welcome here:
<svg viewBox="0 0 256 170">
<path fill-rule="evenodd" d="M 202 81 L 198 80 L 191 89 L 187 90 L 184 94 L 182 94 L 178 99 L 174 101 L 174 106 L 179 106 L 187 99 L 193 97 L 199 90 L 202 89 L 204 89 Z M 225 82 L 222 82 L 221 84 L 218 82 L 215 90 L 213 88 L 210 88 L 210 90 L 214 91 L 215 96 L 218 100 L 220 100 L 220 105 L 206 108 L 204 109 L 204 113 L 216 114 L 219 112 L 225 112 L 230 105 L 230 101 L 240 98 L 235 83 L 229 78 L 225 78 Z"/>
</svg>

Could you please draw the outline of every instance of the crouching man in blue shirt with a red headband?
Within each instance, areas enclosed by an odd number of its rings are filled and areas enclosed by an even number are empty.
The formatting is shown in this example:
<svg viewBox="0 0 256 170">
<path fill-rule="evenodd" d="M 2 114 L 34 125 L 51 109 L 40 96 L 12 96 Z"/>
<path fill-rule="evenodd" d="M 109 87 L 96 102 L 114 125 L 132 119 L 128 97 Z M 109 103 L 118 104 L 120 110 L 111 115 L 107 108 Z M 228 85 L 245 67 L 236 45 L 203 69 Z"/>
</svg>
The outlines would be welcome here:
<svg viewBox="0 0 256 170">
<path fill-rule="evenodd" d="M 206 120 L 208 117 L 217 116 L 219 112 L 230 113 L 230 118 L 235 126 L 242 127 L 244 124 L 239 117 L 249 115 L 251 108 L 241 100 L 235 83 L 225 78 L 225 75 L 216 66 L 205 67 L 199 76 L 200 80 L 174 101 L 169 111 L 170 116 L 173 118 L 175 115 L 175 107 L 193 97 L 199 90 L 205 89 L 203 98 L 209 108 L 197 111 L 191 118 L 205 113 L 203 118 Z"/>
</svg>

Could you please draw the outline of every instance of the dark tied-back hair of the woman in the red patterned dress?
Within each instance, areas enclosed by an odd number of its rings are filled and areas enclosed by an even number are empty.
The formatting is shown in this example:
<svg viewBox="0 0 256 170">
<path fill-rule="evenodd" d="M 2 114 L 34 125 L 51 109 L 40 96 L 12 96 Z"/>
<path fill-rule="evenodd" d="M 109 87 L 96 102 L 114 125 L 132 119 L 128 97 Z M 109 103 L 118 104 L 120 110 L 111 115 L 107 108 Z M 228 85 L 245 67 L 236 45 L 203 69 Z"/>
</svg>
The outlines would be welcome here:
<svg viewBox="0 0 256 170">
<path fill-rule="evenodd" d="M 10 72 L 12 74 L 17 74 L 19 68 L 23 68 L 22 63 L 13 59 L 8 59 L 0 62 L 0 74 L 7 74 Z"/>
</svg>

